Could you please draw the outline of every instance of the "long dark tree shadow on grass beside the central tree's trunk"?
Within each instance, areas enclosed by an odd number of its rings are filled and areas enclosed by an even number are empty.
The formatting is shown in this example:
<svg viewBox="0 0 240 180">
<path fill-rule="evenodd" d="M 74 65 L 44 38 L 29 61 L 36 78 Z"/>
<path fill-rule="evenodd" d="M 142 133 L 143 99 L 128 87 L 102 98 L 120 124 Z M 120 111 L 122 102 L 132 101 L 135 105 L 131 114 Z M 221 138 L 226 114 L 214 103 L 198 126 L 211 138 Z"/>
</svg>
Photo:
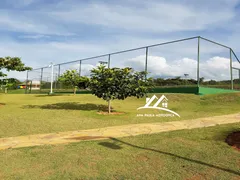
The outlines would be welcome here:
<svg viewBox="0 0 240 180">
<path fill-rule="evenodd" d="M 79 104 L 76 102 L 71 103 L 56 103 L 56 104 L 46 104 L 46 105 L 27 105 L 23 107 L 24 109 L 52 109 L 52 110 L 83 110 L 83 111 L 107 111 L 108 106 L 102 104 Z"/>
</svg>

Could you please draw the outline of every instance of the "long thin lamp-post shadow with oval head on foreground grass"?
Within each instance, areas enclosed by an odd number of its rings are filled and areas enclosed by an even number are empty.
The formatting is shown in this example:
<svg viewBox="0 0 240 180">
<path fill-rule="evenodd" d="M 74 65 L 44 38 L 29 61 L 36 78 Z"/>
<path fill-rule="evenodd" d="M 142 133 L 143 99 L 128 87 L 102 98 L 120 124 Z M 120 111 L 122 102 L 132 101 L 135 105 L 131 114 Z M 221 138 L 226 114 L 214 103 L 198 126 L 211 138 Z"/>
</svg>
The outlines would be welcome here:
<svg viewBox="0 0 240 180">
<path fill-rule="evenodd" d="M 152 152 L 159 153 L 159 154 L 164 154 L 164 155 L 167 155 L 167 156 L 175 157 L 175 158 L 178 158 L 178 159 L 183 159 L 183 160 L 186 160 L 186 161 L 189 161 L 189 162 L 192 162 L 192 163 L 197 163 L 197 164 L 200 164 L 200 165 L 204 165 L 204 166 L 207 166 L 207 167 L 210 167 L 210 168 L 225 171 L 225 172 L 232 173 L 232 174 L 235 174 L 235 175 L 240 175 L 240 172 L 237 172 L 237 171 L 234 171 L 234 170 L 231 170 L 231 169 L 227 169 L 227 168 L 223 168 L 223 167 L 219 167 L 219 166 L 216 166 L 216 165 L 213 165 L 213 164 L 208 164 L 206 162 L 202 162 L 202 161 L 199 161 L 199 160 L 194 160 L 194 159 L 190 159 L 190 158 L 187 158 L 187 157 L 179 156 L 179 155 L 176 155 L 176 154 L 173 154 L 173 153 L 170 153 L 170 152 L 164 152 L 164 151 L 160 151 L 160 150 L 156 150 L 156 149 L 137 146 L 137 145 L 134 145 L 134 144 L 130 144 L 128 142 L 121 141 L 121 140 L 116 139 L 116 138 L 110 138 L 110 139 L 113 140 L 114 142 L 113 143 L 101 142 L 101 143 L 98 143 L 98 144 L 101 145 L 101 146 L 110 148 L 110 149 L 114 149 L 114 150 L 122 149 L 123 147 L 121 147 L 121 144 L 125 144 L 125 145 L 131 146 L 133 148 L 152 151 Z"/>
</svg>

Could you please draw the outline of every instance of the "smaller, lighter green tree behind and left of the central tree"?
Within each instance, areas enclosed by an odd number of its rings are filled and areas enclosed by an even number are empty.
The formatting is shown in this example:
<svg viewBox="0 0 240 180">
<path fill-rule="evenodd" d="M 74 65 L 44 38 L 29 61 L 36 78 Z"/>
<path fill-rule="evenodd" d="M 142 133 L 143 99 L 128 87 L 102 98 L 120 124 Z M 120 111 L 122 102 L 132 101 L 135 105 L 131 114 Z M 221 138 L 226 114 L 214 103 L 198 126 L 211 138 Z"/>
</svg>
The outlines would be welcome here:
<svg viewBox="0 0 240 180">
<path fill-rule="evenodd" d="M 74 94 L 76 94 L 77 87 L 86 89 L 89 83 L 89 78 L 80 76 L 77 70 L 67 70 L 59 78 L 58 81 L 64 85 L 71 86 Z"/>
</svg>

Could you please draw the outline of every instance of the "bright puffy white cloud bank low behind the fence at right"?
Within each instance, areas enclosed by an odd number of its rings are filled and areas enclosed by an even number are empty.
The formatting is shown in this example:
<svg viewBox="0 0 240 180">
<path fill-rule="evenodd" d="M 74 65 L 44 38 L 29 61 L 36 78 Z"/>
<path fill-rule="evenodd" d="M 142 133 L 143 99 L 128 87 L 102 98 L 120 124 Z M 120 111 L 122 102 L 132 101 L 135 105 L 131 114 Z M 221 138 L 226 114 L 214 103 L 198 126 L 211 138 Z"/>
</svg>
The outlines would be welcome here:
<svg viewBox="0 0 240 180">
<path fill-rule="evenodd" d="M 124 62 L 125 65 L 135 70 L 144 70 L 145 56 L 138 56 Z M 233 64 L 240 68 L 239 63 Z M 183 77 L 189 74 L 189 78 L 197 77 L 197 60 L 183 58 L 178 60 L 165 59 L 164 57 L 149 56 L 148 72 L 150 77 Z M 224 57 L 212 57 L 207 61 L 200 62 L 200 77 L 206 80 L 230 80 L 230 60 Z"/>
</svg>

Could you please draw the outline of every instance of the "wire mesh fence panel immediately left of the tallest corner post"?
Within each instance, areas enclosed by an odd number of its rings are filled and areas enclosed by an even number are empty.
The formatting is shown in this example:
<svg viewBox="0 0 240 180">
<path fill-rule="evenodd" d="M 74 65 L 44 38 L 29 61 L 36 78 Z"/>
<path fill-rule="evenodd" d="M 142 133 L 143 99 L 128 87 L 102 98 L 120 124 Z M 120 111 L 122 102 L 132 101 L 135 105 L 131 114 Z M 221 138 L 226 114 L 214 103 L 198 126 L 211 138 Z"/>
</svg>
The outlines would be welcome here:
<svg viewBox="0 0 240 180">
<path fill-rule="evenodd" d="M 159 87 L 197 86 L 197 40 L 149 48 L 149 77 Z"/>
</svg>

